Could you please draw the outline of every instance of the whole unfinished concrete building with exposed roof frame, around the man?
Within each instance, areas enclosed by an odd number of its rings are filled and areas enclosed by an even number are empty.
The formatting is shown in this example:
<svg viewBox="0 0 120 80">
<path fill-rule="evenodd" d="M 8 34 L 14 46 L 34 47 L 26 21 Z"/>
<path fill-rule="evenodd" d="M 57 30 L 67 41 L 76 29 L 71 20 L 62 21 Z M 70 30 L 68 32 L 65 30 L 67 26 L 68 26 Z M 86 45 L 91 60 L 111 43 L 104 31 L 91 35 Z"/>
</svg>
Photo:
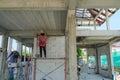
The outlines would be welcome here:
<svg viewBox="0 0 120 80">
<path fill-rule="evenodd" d="M 0 0 L 0 80 L 120 80 L 120 68 L 114 68 L 112 58 L 113 47 L 119 47 L 115 43 L 120 40 L 120 30 L 110 30 L 109 24 L 110 17 L 119 10 L 119 3 L 119 0 Z M 106 30 L 97 30 L 104 23 Z M 39 57 L 37 34 L 41 30 L 47 35 L 46 58 Z M 19 53 L 15 63 L 9 58 L 13 40 L 17 41 L 15 51 Z M 77 57 L 78 48 L 87 53 L 82 65 L 81 57 Z M 88 65 L 90 56 L 95 58 L 93 67 Z M 107 62 L 101 61 L 102 56 Z"/>
</svg>

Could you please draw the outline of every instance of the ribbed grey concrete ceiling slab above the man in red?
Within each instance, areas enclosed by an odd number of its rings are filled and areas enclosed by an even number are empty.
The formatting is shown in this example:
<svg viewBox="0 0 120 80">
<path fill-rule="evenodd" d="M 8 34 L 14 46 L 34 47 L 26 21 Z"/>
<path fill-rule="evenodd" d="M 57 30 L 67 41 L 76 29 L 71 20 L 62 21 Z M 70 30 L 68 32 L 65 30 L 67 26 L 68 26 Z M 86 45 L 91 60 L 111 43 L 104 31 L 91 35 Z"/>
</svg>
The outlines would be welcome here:
<svg viewBox="0 0 120 80">
<path fill-rule="evenodd" d="M 0 25 L 7 30 L 64 30 L 66 11 L 0 10 Z"/>
</svg>

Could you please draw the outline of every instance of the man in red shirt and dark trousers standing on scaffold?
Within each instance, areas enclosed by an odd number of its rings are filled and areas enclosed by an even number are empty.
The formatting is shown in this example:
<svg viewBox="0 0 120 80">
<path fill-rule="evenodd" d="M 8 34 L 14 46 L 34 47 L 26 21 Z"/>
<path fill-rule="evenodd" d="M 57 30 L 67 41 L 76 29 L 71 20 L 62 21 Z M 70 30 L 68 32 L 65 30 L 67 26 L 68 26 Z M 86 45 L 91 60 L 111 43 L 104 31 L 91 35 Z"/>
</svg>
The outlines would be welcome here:
<svg viewBox="0 0 120 80">
<path fill-rule="evenodd" d="M 38 36 L 38 45 L 40 48 L 40 57 L 42 57 L 42 49 L 44 51 L 44 57 L 46 58 L 46 41 L 47 41 L 47 35 L 41 31 L 40 35 Z"/>
</svg>

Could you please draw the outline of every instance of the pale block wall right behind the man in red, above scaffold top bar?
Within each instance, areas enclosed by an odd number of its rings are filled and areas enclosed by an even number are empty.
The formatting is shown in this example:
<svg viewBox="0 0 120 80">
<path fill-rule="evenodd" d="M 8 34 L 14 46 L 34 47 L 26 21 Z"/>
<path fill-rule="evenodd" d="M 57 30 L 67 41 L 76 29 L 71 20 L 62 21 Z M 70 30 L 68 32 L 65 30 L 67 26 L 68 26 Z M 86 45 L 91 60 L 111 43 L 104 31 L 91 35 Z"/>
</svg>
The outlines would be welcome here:
<svg viewBox="0 0 120 80">
<path fill-rule="evenodd" d="M 47 58 L 65 57 L 65 36 L 48 36 L 46 45 Z M 37 54 L 40 54 L 39 47 Z"/>
</svg>

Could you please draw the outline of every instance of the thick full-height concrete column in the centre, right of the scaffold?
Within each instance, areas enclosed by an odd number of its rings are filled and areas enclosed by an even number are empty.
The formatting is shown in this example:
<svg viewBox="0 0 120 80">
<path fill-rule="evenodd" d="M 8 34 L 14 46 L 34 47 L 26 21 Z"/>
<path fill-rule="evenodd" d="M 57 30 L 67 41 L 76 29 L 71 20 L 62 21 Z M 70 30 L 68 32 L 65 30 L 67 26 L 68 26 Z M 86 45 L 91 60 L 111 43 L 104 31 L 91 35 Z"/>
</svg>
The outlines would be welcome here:
<svg viewBox="0 0 120 80">
<path fill-rule="evenodd" d="M 67 16 L 67 27 L 68 27 L 68 75 L 66 80 L 78 80 L 77 76 L 77 56 L 76 56 L 76 19 L 75 10 L 68 10 Z"/>
</svg>

